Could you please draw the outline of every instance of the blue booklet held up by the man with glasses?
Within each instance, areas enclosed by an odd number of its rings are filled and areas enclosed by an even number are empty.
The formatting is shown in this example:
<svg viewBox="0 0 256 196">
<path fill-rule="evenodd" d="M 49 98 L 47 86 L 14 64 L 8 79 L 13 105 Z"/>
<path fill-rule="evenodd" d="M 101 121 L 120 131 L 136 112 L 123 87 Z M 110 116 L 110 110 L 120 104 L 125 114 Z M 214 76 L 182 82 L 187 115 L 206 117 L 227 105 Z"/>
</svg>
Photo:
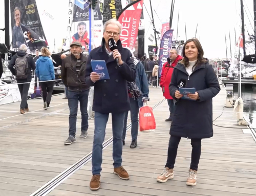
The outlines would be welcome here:
<svg viewBox="0 0 256 196">
<path fill-rule="evenodd" d="M 100 80 L 110 79 L 108 68 L 106 68 L 106 62 L 104 60 L 92 60 L 91 65 L 93 72 L 100 75 Z"/>
</svg>

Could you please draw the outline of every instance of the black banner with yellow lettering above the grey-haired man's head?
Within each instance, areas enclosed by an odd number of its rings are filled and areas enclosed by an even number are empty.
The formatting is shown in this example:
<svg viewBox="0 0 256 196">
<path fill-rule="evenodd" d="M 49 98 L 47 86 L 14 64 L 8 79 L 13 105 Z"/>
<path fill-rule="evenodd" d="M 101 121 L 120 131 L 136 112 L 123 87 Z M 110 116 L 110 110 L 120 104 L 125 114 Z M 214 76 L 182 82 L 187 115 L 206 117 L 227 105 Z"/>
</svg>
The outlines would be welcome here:
<svg viewBox="0 0 256 196">
<path fill-rule="evenodd" d="M 121 11 L 122 11 L 121 0 L 104 0 L 103 19 L 102 19 L 103 25 L 109 19 L 117 18 L 117 16 L 120 14 Z"/>
</svg>

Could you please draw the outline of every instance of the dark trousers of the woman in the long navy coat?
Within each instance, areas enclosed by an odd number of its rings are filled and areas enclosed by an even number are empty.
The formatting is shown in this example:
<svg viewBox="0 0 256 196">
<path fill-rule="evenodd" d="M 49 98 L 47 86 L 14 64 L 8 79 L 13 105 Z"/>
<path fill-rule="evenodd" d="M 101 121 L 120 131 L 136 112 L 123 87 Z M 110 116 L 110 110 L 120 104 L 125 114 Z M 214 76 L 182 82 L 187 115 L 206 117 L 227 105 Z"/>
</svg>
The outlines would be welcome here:
<svg viewBox="0 0 256 196">
<path fill-rule="evenodd" d="M 174 168 L 178 145 L 180 143 L 181 137 L 170 136 L 169 147 L 168 147 L 168 157 L 165 167 L 170 169 Z M 202 139 L 191 139 L 192 153 L 191 153 L 191 163 L 190 169 L 198 169 L 198 164 L 201 156 L 201 141 Z"/>
</svg>

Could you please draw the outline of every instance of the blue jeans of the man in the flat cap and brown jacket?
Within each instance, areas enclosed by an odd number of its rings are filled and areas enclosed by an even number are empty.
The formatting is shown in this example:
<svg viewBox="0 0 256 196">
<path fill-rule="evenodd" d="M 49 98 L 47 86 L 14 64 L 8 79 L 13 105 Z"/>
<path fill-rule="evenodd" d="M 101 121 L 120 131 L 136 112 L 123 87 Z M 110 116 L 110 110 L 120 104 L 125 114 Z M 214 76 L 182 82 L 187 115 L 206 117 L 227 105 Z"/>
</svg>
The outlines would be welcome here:
<svg viewBox="0 0 256 196">
<path fill-rule="evenodd" d="M 76 136 L 76 119 L 77 119 L 77 110 L 78 110 L 78 101 L 80 102 L 80 111 L 81 111 L 81 131 L 88 130 L 88 95 L 89 90 L 75 92 L 68 91 L 68 101 L 69 101 L 69 135 Z"/>
</svg>

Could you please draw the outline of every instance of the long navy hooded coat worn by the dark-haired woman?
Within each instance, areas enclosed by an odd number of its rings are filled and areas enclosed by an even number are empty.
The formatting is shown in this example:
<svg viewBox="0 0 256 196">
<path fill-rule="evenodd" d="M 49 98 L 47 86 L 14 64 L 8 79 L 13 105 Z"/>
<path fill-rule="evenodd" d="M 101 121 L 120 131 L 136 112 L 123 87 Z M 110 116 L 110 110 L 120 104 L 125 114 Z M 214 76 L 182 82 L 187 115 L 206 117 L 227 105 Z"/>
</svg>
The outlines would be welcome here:
<svg viewBox="0 0 256 196">
<path fill-rule="evenodd" d="M 174 68 L 169 85 L 170 95 L 175 97 L 178 83 L 186 79 L 186 88 L 195 88 L 197 101 L 178 99 L 175 105 L 170 135 L 184 138 L 210 138 L 212 129 L 212 98 L 220 92 L 220 85 L 212 66 L 202 63 L 188 76 L 182 61 Z"/>
</svg>

